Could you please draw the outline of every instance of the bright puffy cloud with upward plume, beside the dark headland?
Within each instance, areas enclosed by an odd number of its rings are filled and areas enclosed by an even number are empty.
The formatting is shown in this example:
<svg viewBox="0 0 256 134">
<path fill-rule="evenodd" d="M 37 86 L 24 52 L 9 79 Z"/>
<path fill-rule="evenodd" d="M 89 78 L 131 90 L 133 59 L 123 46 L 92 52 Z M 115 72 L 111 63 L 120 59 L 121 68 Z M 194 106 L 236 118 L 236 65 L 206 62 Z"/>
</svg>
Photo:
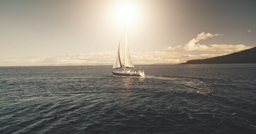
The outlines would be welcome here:
<svg viewBox="0 0 256 134">
<path fill-rule="evenodd" d="M 189 43 L 186 43 L 184 46 L 177 45 L 175 47 L 169 46 L 168 48 L 164 50 L 171 50 L 171 51 L 202 51 L 202 52 L 237 52 L 245 49 L 249 49 L 252 47 L 245 46 L 244 44 L 240 45 L 231 45 L 231 44 L 211 44 L 209 46 L 207 45 L 201 45 L 198 43 L 200 40 L 207 39 L 210 37 L 215 36 L 222 36 L 222 34 L 211 34 L 204 32 L 197 35 L 196 38 L 191 39 Z"/>
</svg>

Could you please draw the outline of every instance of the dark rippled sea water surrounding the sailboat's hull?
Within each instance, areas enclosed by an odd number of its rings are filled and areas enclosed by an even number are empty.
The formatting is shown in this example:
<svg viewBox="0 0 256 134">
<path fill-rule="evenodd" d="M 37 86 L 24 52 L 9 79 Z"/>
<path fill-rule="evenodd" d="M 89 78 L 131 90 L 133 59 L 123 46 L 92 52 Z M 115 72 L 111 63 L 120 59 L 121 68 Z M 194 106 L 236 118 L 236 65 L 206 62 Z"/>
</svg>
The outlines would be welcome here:
<svg viewBox="0 0 256 134">
<path fill-rule="evenodd" d="M 256 64 L 141 67 L 0 67 L 0 133 L 256 133 Z"/>
</svg>

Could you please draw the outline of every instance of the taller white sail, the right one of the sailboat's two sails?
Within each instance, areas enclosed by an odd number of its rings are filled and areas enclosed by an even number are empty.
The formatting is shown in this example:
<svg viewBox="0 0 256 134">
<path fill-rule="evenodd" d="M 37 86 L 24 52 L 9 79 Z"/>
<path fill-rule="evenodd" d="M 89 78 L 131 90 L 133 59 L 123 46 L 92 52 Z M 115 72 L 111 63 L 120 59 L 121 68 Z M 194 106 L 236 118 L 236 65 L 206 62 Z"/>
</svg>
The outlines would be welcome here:
<svg viewBox="0 0 256 134">
<path fill-rule="evenodd" d="M 130 56 L 130 51 L 127 45 L 126 32 L 125 32 L 125 43 L 124 43 L 124 68 L 134 68 L 132 64 L 132 59 Z"/>
</svg>

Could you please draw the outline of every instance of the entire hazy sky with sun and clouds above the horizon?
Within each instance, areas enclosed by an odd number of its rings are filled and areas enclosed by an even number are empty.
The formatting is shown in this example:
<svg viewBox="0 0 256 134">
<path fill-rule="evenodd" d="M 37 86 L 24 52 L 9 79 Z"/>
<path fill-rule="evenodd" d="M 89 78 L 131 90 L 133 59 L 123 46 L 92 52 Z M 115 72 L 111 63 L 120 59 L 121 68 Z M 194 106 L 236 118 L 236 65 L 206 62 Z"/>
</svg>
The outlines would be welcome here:
<svg viewBox="0 0 256 134">
<path fill-rule="evenodd" d="M 137 65 L 230 54 L 256 46 L 255 7 L 255 0 L 0 0 L 0 66 L 112 65 L 125 27 Z"/>
</svg>

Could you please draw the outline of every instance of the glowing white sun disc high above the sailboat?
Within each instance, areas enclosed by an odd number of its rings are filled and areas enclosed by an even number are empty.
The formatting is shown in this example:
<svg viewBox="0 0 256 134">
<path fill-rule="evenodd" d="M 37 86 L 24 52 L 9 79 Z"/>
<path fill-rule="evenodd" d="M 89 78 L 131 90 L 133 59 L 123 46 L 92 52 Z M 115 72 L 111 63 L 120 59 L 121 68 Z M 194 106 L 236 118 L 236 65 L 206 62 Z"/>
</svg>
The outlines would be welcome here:
<svg viewBox="0 0 256 134">
<path fill-rule="evenodd" d="M 116 8 L 116 17 L 117 20 L 124 24 L 128 25 L 135 21 L 137 10 L 134 2 L 126 1 L 126 2 L 120 2 L 117 4 Z"/>
</svg>

